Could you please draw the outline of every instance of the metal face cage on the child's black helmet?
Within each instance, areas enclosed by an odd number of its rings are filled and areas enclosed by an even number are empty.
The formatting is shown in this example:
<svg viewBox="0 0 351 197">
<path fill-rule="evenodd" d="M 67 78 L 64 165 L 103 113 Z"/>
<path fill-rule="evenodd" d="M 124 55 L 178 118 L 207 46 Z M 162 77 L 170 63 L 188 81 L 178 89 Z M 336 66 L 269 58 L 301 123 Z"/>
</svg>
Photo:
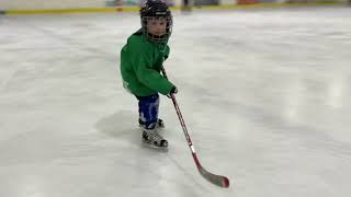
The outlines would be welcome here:
<svg viewBox="0 0 351 197">
<path fill-rule="evenodd" d="M 148 26 L 149 23 L 166 23 L 165 24 L 165 32 L 162 32 L 162 34 L 159 35 L 155 35 L 150 32 L 150 25 Z M 169 37 L 171 36 L 172 33 L 172 26 L 173 26 L 173 21 L 172 21 L 172 16 L 171 15 L 167 15 L 167 16 L 141 16 L 141 27 L 143 27 L 143 32 L 144 35 L 146 35 L 146 37 L 155 43 L 158 44 L 167 44 Z"/>
</svg>

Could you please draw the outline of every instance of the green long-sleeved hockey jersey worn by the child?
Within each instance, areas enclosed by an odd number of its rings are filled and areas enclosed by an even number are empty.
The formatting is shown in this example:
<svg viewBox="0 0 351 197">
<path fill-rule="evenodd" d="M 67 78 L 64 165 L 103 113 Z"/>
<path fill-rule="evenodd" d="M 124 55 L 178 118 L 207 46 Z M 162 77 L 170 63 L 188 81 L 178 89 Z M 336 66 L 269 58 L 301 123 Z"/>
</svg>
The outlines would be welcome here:
<svg viewBox="0 0 351 197">
<path fill-rule="evenodd" d="M 137 96 L 148 96 L 157 92 L 169 94 L 174 85 L 160 74 L 163 59 L 168 55 L 168 45 L 148 40 L 141 31 L 134 33 L 121 50 L 124 88 Z"/>
</svg>

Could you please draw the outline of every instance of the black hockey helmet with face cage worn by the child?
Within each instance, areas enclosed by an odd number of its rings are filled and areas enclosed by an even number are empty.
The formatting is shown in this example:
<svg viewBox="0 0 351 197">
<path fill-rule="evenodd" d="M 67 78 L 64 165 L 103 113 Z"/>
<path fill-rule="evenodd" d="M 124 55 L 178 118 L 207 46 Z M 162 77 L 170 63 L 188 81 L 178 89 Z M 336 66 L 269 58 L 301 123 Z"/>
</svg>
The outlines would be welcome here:
<svg viewBox="0 0 351 197">
<path fill-rule="evenodd" d="M 172 14 L 163 0 L 146 0 L 140 8 L 141 28 L 148 39 L 166 44 L 172 33 Z M 151 20 L 163 20 L 166 31 L 162 35 L 154 35 L 148 31 L 147 24 Z"/>
</svg>

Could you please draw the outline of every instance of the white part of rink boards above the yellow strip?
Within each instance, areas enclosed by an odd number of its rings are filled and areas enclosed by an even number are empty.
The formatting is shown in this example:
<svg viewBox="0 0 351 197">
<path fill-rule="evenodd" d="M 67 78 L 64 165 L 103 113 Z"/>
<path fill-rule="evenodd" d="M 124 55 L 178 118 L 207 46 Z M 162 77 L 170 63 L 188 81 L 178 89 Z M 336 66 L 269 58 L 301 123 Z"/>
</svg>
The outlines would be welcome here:
<svg viewBox="0 0 351 197">
<path fill-rule="evenodd" d="M 140 0 L 0 0 L 1 10 L 46 10 L 46 9 L 89 9 L 112 8 L 117 5 L 133 7 Z M 181 5 L 182 0 L 168 0 L 173 5 Z M 316 2 L 320 0 L 197 0 L 197 2 L 218 2 L 218 4 Z M 321 0 L 322 1 L 322 0 Z M 347 2 L 348 0 L 332 0 Z M 211 4 L 211 3 L 210 3 Z"/>
</svg>

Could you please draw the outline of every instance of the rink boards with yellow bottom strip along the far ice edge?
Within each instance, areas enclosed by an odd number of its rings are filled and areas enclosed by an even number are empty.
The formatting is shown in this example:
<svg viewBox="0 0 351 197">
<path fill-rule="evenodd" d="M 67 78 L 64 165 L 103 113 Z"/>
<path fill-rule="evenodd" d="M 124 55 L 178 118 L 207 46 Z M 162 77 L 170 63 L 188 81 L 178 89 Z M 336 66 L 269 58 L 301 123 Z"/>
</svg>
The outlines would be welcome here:
<svg viewBox="0 0 351 197">
<path fill-rule="evenodd" d="M 50 3 L 31 3 L 31 4 L 15 4 L 14 0 L 12 4 L 0 3 L 1 14 L 45 14 L 45 13 L 89 13 L 89 12 L 137 12 L 139 8 L 137 3 L 107 3 L 109 1 L 94 1 L 94 3 L 83 4 L 70 4 L 69 0 L 67 3 L 50 4 Z M 36 0 L 38 2 L 43 0 Z M 172 10 L 181 10 L 180 2 L 172 1 L 170 5 Z M 57 1 L 56 1 L 57 2 Z M 77 2 L 77 1 L 76 1 Z M 80 1 L 82 2 L 82 1 Z M 196 1 L 197 2 L 197 1 Z M 206 3 L 208 2 L 208 3 Z M 192 7 L 194 10 L 228 10 L 228 9 L 252 9 L 252 8 L 284 8 L 284 7 L 316 7 L 316 5 L 346 5 L 346 0 L 229 0 L 219 1 L 199 1 Z"/>
</svg>

